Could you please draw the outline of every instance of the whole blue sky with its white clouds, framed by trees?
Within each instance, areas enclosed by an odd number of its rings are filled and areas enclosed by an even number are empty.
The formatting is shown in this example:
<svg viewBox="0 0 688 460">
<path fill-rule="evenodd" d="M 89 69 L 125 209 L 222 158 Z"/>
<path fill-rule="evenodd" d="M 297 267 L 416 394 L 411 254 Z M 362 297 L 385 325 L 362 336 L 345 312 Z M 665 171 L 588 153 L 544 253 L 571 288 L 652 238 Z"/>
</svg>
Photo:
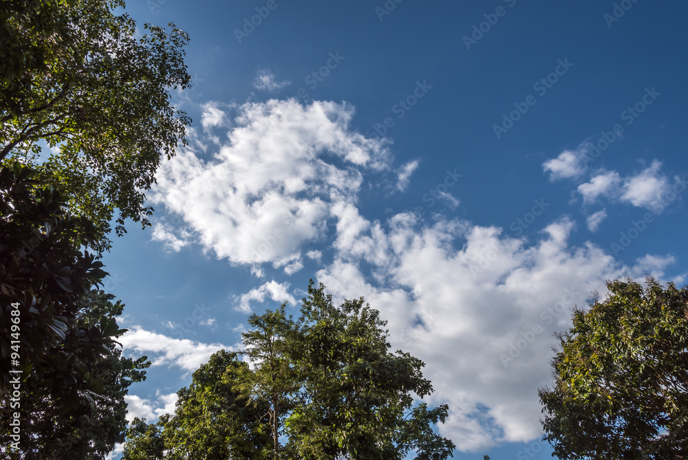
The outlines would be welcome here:
<svg viewBox="0 0 688 460">
<path fill-rule="evenodd" d="M 127 3 L 189 32 L 190 146 L 104 262 L 155 419 L 309 278 L 426 362 L 455 458 L 550 458 L 552 332 L 604 280 L 685 284 L 688 6 Z M 256 16 L 258 15 L 258 16 Z M 251 23 L 253 21 L 253 23 Z"/>
</svg>

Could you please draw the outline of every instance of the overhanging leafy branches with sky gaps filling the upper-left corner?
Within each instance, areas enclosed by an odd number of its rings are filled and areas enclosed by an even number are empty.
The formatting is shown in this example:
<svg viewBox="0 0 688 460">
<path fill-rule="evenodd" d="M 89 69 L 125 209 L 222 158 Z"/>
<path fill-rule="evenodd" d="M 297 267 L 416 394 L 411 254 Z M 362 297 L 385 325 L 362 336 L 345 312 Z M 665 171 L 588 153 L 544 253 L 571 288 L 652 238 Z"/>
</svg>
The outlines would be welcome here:
<svg viewBox="0 0 688 460">
<path fill-rule="evenodd" d="M 145 191 L 163 155 L 186 145 L 191 119 L 170 105 L 169 88 L 189 86 L 189 37 L 136 23 L 122 0 L 9 0 L 0 4 L 0 160 L 23 158 L 44 184 L 60 187 L 70 210 L 96 224 L 94 249 L 111 246 L 109 222 L 150 225 Z M 58 153 L 42 165 L 44 141 Z"/>
</svg>

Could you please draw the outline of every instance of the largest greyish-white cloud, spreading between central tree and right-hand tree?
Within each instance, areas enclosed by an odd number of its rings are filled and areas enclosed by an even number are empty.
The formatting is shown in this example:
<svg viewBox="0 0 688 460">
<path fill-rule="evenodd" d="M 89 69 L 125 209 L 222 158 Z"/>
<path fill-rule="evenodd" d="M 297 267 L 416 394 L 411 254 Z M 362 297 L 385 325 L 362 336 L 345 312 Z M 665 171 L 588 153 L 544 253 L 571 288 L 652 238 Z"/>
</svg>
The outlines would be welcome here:
<svg viewBox="0 0 688 460">
<path fill-rule="evenodd" d="M 391 218 L 387 229 L 359 223 L 355 241 L 368 238 L 366 249 L 339 244 L 318 281 L 338 301 L 364 295 L 389 320 L 392 348 L 427 364 L 424 375 L 436 389 L 429 401 L 450 405 L 440 432 L 460 450 L 537 439 L 537 388 L 550 379 L 552 333 L 570 326 L 574 304 L 604 293 L 604 280 L 629 269 L 590 242 L 570 246 L 574 222 L 566 218 L 530 245 L 495 227 L 418 225 L 410 214 Z M 380 286 L 370 284 L 361 262 L 374 265 Z M 633 269 L 657 264 L 638 260 Z M 530 341 L 511 359 L 510 344 L 524 337 Z"/>
</svg>

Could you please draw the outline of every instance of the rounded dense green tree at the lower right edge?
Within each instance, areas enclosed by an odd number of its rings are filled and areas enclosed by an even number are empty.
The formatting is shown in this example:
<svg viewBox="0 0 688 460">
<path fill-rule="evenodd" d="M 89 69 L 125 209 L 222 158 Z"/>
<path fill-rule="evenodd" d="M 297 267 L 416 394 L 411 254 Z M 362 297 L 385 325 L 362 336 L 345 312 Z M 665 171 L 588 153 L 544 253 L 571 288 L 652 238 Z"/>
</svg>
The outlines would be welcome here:
<svg viewBox="0 0 688 460">
<path fill-rule="evenodd" d="M 688 288 L 608 282 L 574 310 L 542 388 L 544 439 L 560 459 L 688 458 Z"/>
</svg>

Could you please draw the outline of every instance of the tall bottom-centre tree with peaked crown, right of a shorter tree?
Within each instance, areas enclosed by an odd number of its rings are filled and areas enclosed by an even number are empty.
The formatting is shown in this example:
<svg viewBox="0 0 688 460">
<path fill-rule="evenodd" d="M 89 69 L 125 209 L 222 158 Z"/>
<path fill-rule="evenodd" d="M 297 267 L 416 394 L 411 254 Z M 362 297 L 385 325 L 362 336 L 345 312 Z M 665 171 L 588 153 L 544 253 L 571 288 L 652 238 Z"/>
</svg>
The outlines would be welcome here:
<svg viewBox="0 0 688 460">
<path fill-rule="evenodd" d="M 332 304 L 311 280 L 303 299 L 290 357 L 302 382 L 286 420 L 288 450 L 304 459 L 447 459 L 454 444 L 436 435 L 448 406 L 413 406 L 432 392 L 424 363 L 390 353 L 387 322 L 359 300 Z"/>
</svg>

